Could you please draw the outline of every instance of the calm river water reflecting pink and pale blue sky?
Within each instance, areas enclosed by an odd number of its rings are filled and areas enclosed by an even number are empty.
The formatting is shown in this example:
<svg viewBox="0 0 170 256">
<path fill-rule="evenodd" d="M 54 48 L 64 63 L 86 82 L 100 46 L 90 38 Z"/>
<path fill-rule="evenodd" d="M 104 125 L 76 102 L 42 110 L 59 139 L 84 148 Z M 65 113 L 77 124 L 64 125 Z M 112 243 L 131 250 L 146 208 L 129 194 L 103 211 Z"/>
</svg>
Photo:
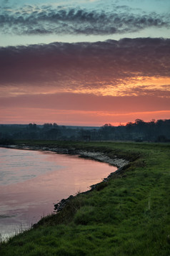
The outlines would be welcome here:
<svg viewBox="0 0 170 256">
<path fill-rule="evenodd" d="M 86 191 L 116 170 L 106 163 L 49 151 L 0 148 L 0 234 L 31 227 L 54 204 Z"/>
</svg>

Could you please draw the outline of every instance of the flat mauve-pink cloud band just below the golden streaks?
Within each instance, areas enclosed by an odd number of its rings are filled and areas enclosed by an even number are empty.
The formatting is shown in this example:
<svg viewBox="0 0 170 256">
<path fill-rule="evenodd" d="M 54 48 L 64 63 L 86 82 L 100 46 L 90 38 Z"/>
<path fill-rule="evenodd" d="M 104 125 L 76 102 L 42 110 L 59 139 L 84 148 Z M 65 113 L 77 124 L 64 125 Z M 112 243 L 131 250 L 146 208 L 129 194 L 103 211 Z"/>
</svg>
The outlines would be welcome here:
<svg viewBox="0 0 170 256">
<path fill-rule="evenodd" d="M 88 104 L 87 104 L 88 103 Z M 170 110 L 169 98 L 158 96 L 97 96 L 81 93 L 56 93 L 51 95 L 18 95 L 0 97 L 3 108 L 34 108 L 56 110 L 102 111 L 110 113 L 130 113 L 138 111 Z M 124 106 L 126 105 L 126 108 Z"/>
</svg>

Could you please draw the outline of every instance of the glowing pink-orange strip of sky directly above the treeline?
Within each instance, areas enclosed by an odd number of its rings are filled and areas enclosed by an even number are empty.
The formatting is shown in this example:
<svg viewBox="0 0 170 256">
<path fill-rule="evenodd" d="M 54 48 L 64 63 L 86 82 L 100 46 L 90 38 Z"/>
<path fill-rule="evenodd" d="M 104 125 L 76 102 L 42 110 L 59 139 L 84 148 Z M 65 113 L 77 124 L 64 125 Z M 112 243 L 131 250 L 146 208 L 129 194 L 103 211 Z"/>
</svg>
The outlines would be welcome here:
<svg viewBox="0 0 170 256">
<path fill-rule="evenodd" d="M 59 125 L 102 126 L 126 124 L 140 118 L 146 122 L 152 119 L 169 119 L 170 110 L 144 111 L 134 113 L 111 113 L 106 111 L 54 110 L 40 108 L 13 108 L 1 110 L 3 123 L 57 123 Z"/>
</svg>

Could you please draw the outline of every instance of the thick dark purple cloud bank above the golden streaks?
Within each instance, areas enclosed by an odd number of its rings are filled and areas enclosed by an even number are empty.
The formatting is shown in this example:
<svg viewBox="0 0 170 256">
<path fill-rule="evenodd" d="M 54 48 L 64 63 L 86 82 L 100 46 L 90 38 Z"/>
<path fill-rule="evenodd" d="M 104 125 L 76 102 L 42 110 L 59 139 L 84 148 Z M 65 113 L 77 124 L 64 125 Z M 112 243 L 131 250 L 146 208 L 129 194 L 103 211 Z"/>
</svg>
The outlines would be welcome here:
<svg viewBox="0 0 170 256">
<path fill-rule="evenodd" d="M 170 39 L 121 39 L 0 48 L 1 85 L 115 87 L 138 76 L 170 74 Z"/>
</svg>

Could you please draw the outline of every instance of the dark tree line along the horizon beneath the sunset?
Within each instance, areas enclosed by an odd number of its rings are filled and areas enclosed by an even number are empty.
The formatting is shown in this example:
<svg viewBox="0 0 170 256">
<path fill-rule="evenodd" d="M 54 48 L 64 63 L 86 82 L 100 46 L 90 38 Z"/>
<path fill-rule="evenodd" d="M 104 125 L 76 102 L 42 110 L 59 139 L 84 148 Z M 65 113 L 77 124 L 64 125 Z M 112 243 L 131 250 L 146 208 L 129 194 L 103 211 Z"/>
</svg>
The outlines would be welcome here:
<svg viewBox="0 0 170 256">
<path fill-rule="evenodd" d="M 134 123 L 114 126 L 110 123 L 99 128 L 69 127 L 56 123 L 44 125 L 0 125 L 1 143 L 14 139 L 65 140 L 65 141 L 151 141 L 170 142 L 170 119 L 136 119 Z"/>
</svg>

